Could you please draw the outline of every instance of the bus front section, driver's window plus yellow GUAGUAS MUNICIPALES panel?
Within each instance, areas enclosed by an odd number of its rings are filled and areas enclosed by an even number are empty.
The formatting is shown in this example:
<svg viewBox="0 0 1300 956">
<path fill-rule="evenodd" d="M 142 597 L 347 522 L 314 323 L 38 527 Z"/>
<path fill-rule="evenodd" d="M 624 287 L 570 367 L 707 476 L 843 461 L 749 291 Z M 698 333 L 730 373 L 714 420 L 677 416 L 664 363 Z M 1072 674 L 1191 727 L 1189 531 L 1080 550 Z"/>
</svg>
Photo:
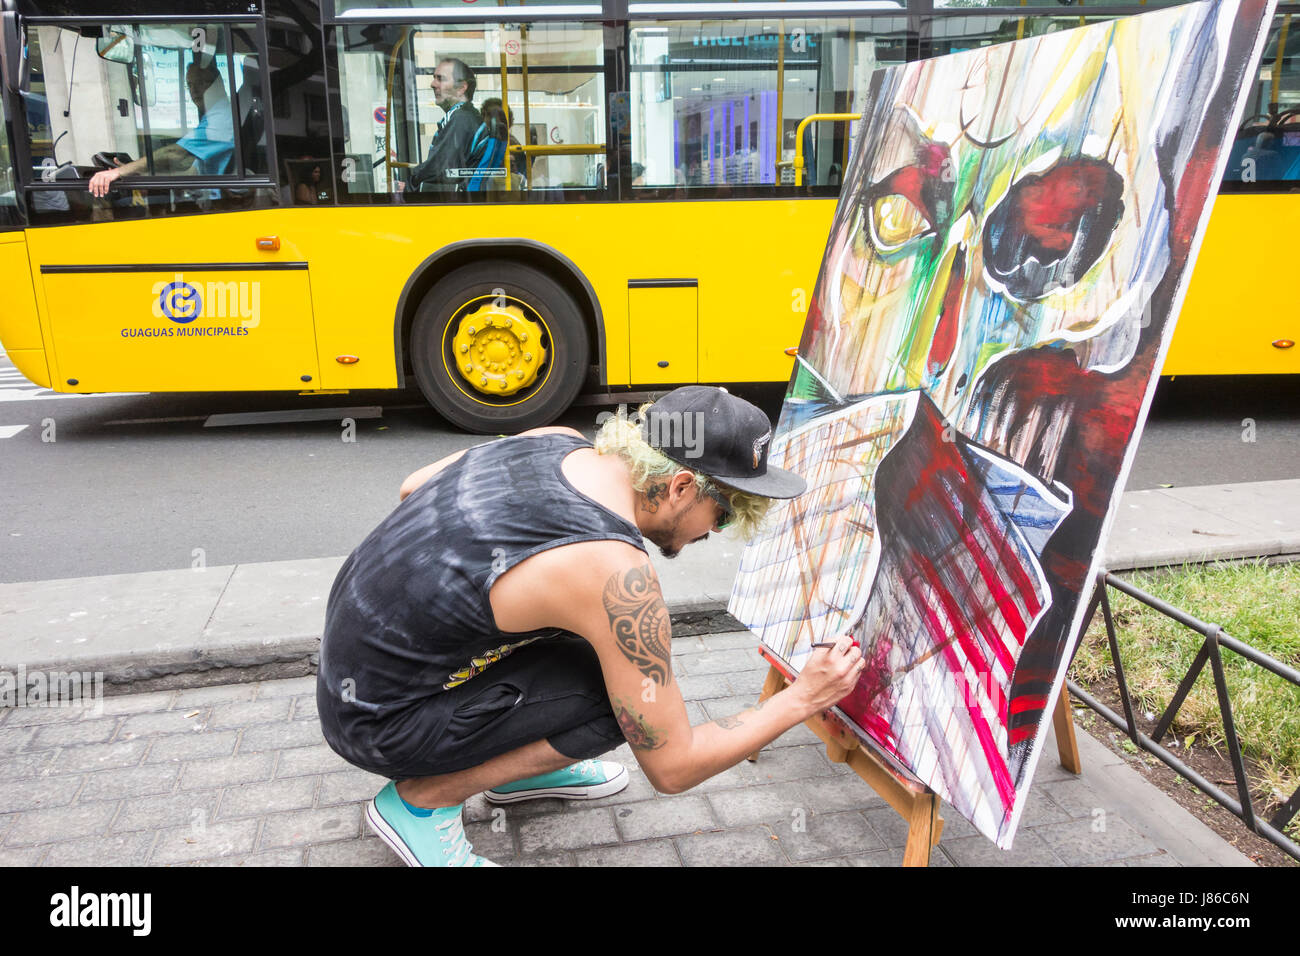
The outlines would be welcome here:
<svg viewBox="0 0 1300 956">
<path fill-rule="evenodd" d="M 278 195 L 264 29 L 204 9 L 23 21 L 20 170 L 58 390 L 318 381 L 306 256 L 266 208 Z"/>
</svg>

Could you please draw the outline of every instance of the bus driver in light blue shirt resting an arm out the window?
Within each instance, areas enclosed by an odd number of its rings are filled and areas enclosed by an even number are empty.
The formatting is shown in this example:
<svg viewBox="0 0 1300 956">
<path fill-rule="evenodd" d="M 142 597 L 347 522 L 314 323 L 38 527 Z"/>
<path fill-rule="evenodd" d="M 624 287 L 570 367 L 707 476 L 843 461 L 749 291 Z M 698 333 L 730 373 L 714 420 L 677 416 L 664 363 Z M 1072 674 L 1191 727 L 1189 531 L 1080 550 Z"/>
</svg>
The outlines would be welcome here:
<svg viewBox="0 0 1300 956">
<path fill-rule="evenodd" d="M 185 72 L 185 85 L 199 109 L 199 125 L 170 146 L 153 151 L 153 174 L 224 176 L 230 172 L 235 135 L 230 100 L 216 60 L 205 56 L 202 61 L 190 64 Z M 105 196 L 108 187 L 117 179 L 144 172 L 148 172 L 148 160 L 143 156 L 116 169 L 103 169 L 90 179 L 91 195 Z"/>
</svg>

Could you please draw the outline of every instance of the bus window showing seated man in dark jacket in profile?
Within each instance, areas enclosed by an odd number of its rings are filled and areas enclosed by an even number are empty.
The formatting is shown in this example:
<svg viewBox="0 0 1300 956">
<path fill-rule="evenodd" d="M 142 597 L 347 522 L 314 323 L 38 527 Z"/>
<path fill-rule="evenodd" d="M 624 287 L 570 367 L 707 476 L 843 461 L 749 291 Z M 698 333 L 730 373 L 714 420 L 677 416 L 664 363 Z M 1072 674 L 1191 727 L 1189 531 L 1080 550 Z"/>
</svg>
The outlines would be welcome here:
<svg viewBox="0 0 1300 956">
<path fill-rule="evenodd" d="M 599 23 L 341 31 L 348 196 L 580 198 L 604 186 Z"/>
</svg>

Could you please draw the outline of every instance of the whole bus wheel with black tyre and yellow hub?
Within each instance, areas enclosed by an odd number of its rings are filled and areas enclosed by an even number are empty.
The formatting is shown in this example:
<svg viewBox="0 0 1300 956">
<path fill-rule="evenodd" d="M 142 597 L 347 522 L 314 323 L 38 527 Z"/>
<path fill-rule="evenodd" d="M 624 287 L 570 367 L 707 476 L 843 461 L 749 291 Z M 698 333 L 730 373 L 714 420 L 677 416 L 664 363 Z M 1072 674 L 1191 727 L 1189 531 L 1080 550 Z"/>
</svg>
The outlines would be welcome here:
<svg viewBox="0 0 1300 956">
<path fill-rule="evenodd" d="M 468 432 L 512 434 L 554 421 L 586 377 L 573 297 L 532 265 L 489 260 L 429 290 L 411 329 L 420 390 Z"/>
</svg>

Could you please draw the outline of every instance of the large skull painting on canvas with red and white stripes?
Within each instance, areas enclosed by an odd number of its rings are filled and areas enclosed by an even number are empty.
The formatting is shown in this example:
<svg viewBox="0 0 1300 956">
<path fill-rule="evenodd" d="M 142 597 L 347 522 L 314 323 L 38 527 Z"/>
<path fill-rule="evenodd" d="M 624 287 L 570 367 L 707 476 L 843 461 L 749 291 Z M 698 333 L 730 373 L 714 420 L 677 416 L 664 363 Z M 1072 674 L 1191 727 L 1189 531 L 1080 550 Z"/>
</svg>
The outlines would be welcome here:
<svg viewBox="0 0 1300 956">
<path fill-rule="evenodd" d="M 731 611 L 1011 844 L 1271 3 L 872 74 Z"/>
</svg>

